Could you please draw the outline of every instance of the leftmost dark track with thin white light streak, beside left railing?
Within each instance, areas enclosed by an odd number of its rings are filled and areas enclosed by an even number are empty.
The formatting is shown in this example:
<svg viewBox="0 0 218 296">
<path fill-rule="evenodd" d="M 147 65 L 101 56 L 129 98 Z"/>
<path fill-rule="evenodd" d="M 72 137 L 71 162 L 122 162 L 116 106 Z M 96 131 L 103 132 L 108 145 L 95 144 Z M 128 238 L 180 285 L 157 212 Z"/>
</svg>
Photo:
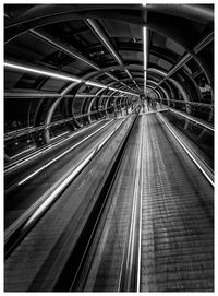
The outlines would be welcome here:
<svg viewBox="0 0 218 296">
<path fill-rule="evenodd" d="M 38 204 L 52 193 L 119 123 L 120 120 L 110 121 L 96 131 L 90 129 L 88 133 L 83 133 L 81 140 L 78 137 L 70 143 L 66 142 L 70 147 L 57 146 L 56 151 L 39 155 L 39 158 L 34 158 L 31 163 L 7 175 L 4 227 L 11 226 L 27 209 L 35 208 L 34 204 Z M 61 147 L 64 150 L 62 151 Z M 10 187 L 7 188 L 7 185 Z M 17 209 L 21 210 L 17 211 Z"/>
</svg>

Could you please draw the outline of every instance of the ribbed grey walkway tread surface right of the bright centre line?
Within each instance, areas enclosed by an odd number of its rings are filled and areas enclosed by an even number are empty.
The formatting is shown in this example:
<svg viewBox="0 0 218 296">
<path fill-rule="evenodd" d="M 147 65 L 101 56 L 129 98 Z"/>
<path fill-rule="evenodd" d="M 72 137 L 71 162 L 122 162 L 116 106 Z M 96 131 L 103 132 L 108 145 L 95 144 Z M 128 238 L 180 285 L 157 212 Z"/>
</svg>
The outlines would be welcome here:
<svg viewBox="0 0 218 296">
<path fill-rule="evenodd" d="M 141 291 L 213 291 L 213 188 L 155 114 L 144 125 Z"/>
</svg>

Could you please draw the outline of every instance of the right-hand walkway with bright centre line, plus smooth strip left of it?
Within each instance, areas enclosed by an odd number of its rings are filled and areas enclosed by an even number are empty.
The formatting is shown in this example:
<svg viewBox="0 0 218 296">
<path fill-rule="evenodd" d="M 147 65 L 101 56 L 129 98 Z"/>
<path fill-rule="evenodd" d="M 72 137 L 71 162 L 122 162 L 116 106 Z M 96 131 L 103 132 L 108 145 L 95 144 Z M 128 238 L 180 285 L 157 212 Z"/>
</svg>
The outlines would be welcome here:
<svg viewBox="0 0 218 296">
<path fill-rule="evenodd" d="M 173 137 L 156 114 L 137 121 L 80 291 L 213 289 L 211 182 Z"/>
</svg>

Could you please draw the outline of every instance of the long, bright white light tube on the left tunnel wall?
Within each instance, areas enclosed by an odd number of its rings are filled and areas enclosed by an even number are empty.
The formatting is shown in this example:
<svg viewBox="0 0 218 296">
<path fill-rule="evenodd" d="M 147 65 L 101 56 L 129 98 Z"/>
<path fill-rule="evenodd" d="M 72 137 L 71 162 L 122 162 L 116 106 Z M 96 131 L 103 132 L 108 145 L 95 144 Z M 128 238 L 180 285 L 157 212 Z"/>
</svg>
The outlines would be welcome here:
<svg viewBox="0 0 218 296">
<path fill-rule="evenodd" d="M 76 79 L 76 78 L 72 78 L 70 75 L 58 74 L 58 73 L 53 73 L 51 71 L 44 71 L 44 70 L 39 70 L 37 68 L 26 67 L 26 66 L 22 66 L 22 64 L 17 64 L 17 63 L 4 62 L 4 67 L 15 69 L 15 70 L 25 71 L 25 72 L 31 72 L 31 73 L 35 73 L 35 74 L 40 74 L 40 75 L 45 75 L 45 76 L 50 76 L 50 78 L 55 78 L 55 79 L 68 80 L 68 81 L 73 81 L 73 82 L 82 82 L 82 80 Z"/>
</svg>

